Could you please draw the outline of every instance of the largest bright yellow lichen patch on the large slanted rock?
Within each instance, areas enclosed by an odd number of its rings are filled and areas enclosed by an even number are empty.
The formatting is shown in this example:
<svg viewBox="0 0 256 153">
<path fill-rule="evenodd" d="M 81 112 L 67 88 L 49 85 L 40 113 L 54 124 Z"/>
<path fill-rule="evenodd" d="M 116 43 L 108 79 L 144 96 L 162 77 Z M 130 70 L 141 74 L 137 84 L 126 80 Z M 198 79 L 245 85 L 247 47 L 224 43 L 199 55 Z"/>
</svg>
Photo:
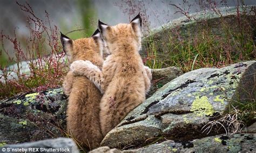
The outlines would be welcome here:
<svg viewBox="0 0 256 153">
<path fill-rule="evenodd" d="M 196 96 L 196 99 L 192 103 L 191 112 L 194 112 L 197 116 L 212 115 L 215 111 L 210 102 L 208 102 L 207 96 Z"/>
</svg>

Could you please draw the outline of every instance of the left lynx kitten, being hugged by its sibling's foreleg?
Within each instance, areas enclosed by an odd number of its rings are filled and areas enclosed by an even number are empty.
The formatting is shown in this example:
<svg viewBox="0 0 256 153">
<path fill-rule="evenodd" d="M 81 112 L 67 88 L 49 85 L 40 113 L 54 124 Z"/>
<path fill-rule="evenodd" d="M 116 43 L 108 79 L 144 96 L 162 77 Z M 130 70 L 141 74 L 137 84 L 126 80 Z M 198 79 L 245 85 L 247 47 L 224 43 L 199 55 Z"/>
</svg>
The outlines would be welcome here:
<svg viewBox="0 0 256 153">
<path fill-rule="evenodd" d="M 63 50 L 69 62 L 89 60 L 102 67 L 103 40 L 99 31 L 90 38 L 71 40 L 61 34 Z M 67 129 L 84 147 L 96 148 L 103 139 L 99 122 L 99 102 L 102 94 L 92 82 L 83 76 L 73 76 L 69 71 L 63 83 L 64 93 L 69 95 Z"/>
</svg>

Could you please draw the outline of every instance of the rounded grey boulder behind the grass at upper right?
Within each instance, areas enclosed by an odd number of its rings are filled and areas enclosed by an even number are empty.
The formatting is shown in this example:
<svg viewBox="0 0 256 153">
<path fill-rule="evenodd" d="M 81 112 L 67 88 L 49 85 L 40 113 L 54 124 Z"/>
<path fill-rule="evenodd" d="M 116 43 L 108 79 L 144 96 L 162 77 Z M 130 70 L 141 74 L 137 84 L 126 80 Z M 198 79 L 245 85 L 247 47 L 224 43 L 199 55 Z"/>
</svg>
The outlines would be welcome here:
<svg viewBox="0 0 256 153">
<path fill-rule="evenodd" d="M 146 37 L 142 39 L 142 54 L 146 55 L 146 48 L 144 46 L 149 46 L 152 41 L 157 41 L 157 45 L 155 45 L 155 49 L 158 53 L 167 54 L 169 46 L 167 44 L 170 43 L 170 38 L 174 37 L 178 40 L 187 40 L 193 39 L 195 34 L 200 31 L 200 26 L 207 23 L 207 26 L 211 27 L 211 34 L 215 34 L 217 36 L 224 36 L 225 30 L 221 28 L 221 22 L 227 23 L 230 30 L 237 31 L 238 23 L 237 20 L 237 9 L 240 12 L 247 12 L 246 16 L 251 18 L 248 22 L 251 22 L 252 25 L 255 24 L 254 21 L 254 12 L 251 11 L 255 5 L 248 5 L 245 9 L 241 6 L 237 7 L 223 7 L 219 8 L 219 13 L 215 11 L 201 11 L 190 14 L 190 19 L 186 16 L 171 20 L 171 22 L 163 24 L 155 29 L 152 29 Z M 220 16 L 221 14 L 221 16 Z M 176 33 L 179 33 L 178 36 Z M 172 39 L 171 39 L 172 40 Z"/>
</svg>

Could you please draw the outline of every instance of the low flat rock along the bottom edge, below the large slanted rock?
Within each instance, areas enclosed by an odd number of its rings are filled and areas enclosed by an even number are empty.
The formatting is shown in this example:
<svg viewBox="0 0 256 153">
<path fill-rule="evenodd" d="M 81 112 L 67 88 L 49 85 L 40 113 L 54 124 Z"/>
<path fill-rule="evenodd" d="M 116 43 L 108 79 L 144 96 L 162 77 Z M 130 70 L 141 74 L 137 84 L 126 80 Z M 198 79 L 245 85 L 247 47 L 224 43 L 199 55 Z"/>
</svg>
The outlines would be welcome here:
<svg viewBox="0 0 256 153">
<path fill-rule="evenodd" d="M 215 135 L 200 138 L 192 141 L 173 141 L 156 142 L 146 147 L 118 150 L 109 147 L 100 147 L 93 152 L 254 152 L 256 150 L 256 134 L 235 134 L 233 136 Z"/>
</svg>

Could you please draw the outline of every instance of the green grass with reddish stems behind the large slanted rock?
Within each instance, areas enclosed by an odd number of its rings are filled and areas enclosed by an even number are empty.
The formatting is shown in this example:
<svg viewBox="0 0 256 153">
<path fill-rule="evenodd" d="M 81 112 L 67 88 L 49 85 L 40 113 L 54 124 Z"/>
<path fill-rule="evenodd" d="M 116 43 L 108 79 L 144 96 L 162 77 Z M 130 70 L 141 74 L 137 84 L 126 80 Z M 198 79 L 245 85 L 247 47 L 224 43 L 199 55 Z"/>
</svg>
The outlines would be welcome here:
<svg viewBox="0 0 256 153">
<path fill-rule="evenodd" d="M 192 69 L 224 67 L 239 61 L 254 60 L 254 17 L 241 17 L 242 28 L 234 23 L 235 17 L 232 17 L 232 22 L 223 17 L 177 27 L 174 29 L 176 32 L 169 30 L 166 34 L 165 31 L 160 39 L 153 36 L 144 44 L 147 53 L 144 54 L 145 64 L 150 68 L 177 66 L 185 73 Z M 219 31 L 211 27 L 212 22 L 219 23 Z"/>
</svg>

